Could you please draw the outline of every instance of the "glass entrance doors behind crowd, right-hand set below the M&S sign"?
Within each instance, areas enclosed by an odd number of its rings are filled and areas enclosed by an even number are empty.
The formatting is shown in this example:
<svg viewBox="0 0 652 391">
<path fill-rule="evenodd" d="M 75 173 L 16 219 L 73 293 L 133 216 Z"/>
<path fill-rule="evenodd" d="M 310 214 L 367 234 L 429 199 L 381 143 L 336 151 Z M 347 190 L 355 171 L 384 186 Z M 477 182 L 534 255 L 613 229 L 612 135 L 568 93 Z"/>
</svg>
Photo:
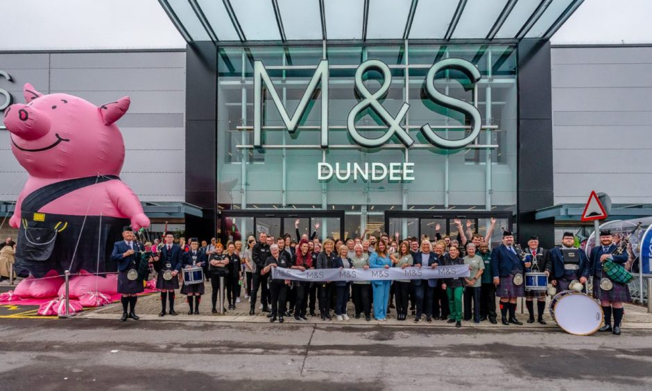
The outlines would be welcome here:
<svg viewBox="0 0 652 391">
<path fill-rule="evenodd" d="M 509 211 L 386 211 L 385 227 L 389 228 L 388 234 L 393 235 L 398 232 L 401 238 L 412 236 L 421 238 L 422 235 L 427 235 L 432 240 L 436 237 L 436 232 L 439 232 L 442 236 L 449 235 L 456 238 L 458 228 L 454 221 L 459 218 L 465 233 L 467 221 L 470 221 L 471 231 L 473 233 L 479 232 L 485 236 L 492 217 L 497 219 L 490 239 L 492 245 L 494 245 L 500 243 L 504 229 L 511 229 L 512 213 Z"/>
</svg>

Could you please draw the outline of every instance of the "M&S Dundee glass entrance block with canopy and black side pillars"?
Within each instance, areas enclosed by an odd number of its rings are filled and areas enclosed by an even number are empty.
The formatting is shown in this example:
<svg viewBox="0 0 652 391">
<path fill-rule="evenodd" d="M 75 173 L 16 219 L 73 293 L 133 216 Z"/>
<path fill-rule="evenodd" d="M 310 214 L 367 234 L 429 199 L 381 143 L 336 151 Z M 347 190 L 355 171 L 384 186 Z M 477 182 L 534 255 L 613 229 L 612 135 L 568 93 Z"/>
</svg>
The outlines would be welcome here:
<svg viewBox="0 0 652 391">
<path fill-rule="evenodd" d="M 553 202 L 547 39 L 581 1 L 161 3 L 189 42 L 198 231 L 456 235 L 454 218 L 495 217 L 552 244 L 533 213 Z"/>
</svg>

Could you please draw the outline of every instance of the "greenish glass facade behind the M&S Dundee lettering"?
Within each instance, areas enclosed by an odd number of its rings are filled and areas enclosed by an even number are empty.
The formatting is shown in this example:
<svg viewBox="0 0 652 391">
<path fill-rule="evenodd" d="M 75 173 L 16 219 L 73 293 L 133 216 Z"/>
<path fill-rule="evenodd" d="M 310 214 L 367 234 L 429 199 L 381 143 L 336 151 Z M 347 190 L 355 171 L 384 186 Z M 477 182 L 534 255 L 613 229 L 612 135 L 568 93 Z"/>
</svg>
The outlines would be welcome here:
<svg viewBox="0 0 652 391">
<path fill-rule="evenodd" d="M 431 146 L 420 128 L 428 123 L 442 137 L 461 139 L 470 122 L 463 112 L 434 103 L 426 92 L 427 73 L 435 62 L 462 58 L 472 62 L 481 80 L 472 86 L 461 71 L 436 74 L 439 92 L 476 106 L 482 117 L 479 137 L 466 148 Z M 288 132 L 282 116 L 264 89 L 261 125 L 264 145 L 253 148 L 254 62 L 263 62 L 286 111 L 293 115 L 320 60 L 327 59 L 329 146 L 319 148 L 321 99 L 311 96 L 298 129 Z M 397 137 L 379 148 L 362 148 L 352 140 L 347 119 L 362 99 L 354 90 L 354 75 L 366 60 L 381 60 L 391 69 L 391 84 L 381 105 L 397 116 L 409 104 L 401 127 L 415 146 L 406 148 Z M 396 46 L 237 46 L 218 55 L 218 207 L 221 210 L 315 210 L 345 212 L 347 236 L 359 236 L 382 222 L 384 211 L 515 211 L 517 171 L 517 69 L 515 46 L 420 45 Z M 382 80 L 372 70 L 363 75 L 372 94 Z M 367 107 L 356 116 L 364 137 L 381 137 L 387 125 Z M 348 146 L 348 147 L 345 147 Z M 318 180 L 318 163 L 409 162 L 413 182 L 391 180 Z M 408 234 L 413 225 L 403 219 Z M 390 227 L 383 227 L 381 229 Z M 286 224 L 286 227 L 289 225 Z M 293 227 L 292 227 L 293 228 Z M 287 231 L 287 229 L 286 229 Z"/>
</svg>

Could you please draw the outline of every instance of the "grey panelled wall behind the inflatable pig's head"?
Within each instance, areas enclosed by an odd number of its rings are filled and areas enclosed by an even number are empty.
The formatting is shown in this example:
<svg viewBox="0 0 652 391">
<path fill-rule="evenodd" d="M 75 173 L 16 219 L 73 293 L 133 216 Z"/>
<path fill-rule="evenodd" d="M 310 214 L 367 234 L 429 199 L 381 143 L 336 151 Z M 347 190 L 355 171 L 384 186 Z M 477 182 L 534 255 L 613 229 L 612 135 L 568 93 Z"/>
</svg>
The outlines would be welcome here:
<svg viewBox="0 0 652 391">
<path fill-rule="evenodd" d="M 126 146 L 121 178 L 141 201 L 185 201 L 185 51 L 0 53 L 0 78 L 15 103 L 26 82 L 96 105 L 131 97 L 117 122 Z M 3 97 L 0 96 L 0 102 Z M 3 114 L 0 112 L 0 123 Z M 27 173 L 0 130 L 0 200 L 17 198 Z"/>
</svg>

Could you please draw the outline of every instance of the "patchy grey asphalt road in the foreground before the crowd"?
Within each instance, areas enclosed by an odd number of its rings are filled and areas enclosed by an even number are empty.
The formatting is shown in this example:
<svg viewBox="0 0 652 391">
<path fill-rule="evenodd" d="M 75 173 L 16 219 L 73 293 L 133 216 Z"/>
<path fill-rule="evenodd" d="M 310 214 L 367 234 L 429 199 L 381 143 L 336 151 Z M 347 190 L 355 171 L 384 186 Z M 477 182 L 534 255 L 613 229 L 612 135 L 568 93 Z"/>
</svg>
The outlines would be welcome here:
<svg viewBox="0 0 652 391">
<path fill-rule="evenodd" d="M 2 390 L 650 390 L 652 331 L 0 319 Z"/>
</svg>

